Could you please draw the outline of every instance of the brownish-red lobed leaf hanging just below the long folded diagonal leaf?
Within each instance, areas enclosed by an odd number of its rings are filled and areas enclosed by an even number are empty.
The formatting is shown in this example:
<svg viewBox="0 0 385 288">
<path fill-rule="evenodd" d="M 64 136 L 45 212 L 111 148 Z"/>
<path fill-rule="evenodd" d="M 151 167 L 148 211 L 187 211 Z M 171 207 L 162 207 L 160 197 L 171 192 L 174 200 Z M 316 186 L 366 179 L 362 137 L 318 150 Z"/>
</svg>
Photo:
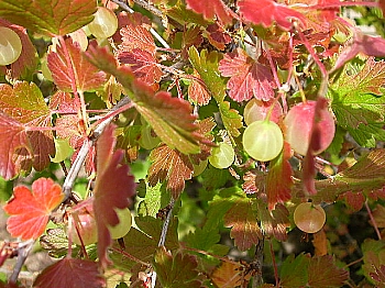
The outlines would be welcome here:
<svg viewBox="0 0 385 288">
<path fill-rule="evenodd" d="M 185 189 L 185 180 L 191 179 L 194 171 L 188 156 L 162 145 L 151 152 L 150 159 L 153 164 L 148 168 L 148 184 L 155 186 L 167 180 L 167 190 L 174 199 L 178 199 Z"/>
</svg>

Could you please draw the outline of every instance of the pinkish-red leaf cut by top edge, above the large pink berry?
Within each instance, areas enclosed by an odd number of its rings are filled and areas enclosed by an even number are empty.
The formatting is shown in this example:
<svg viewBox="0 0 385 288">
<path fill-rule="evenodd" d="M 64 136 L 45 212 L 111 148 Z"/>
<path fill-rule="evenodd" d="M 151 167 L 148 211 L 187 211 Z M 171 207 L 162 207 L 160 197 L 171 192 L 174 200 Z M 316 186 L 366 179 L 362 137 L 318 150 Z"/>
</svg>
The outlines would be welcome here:
<svg viewBox="0 0 385 288">
<path fill-rule="evenodd" d="M 275 21 L 282 29 L 290 30 L 290 19 L 305 22 L 301 13 L 273 0 L 240 0 L 238 5 L 245 20 L 265 27 L 272 26 Z"/>
</svg>

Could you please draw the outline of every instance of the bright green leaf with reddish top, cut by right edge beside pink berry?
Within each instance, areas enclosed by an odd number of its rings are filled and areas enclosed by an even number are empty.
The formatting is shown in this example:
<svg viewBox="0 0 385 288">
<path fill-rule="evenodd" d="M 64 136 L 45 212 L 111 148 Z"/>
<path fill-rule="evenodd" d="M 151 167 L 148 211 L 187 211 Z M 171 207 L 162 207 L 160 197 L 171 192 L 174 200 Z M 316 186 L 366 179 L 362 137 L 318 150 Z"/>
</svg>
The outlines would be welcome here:
<svg viewBox="0 0 385 288">
<path fill-rule="evenodd" d="M 338 124 L 365 147 L 385 140 L 385 98 L 380 90 L 383 85 L 385 62 L 370 58 L 356 74 L 348 75 L 344 70 L 329 92 Z"/>
</svg>

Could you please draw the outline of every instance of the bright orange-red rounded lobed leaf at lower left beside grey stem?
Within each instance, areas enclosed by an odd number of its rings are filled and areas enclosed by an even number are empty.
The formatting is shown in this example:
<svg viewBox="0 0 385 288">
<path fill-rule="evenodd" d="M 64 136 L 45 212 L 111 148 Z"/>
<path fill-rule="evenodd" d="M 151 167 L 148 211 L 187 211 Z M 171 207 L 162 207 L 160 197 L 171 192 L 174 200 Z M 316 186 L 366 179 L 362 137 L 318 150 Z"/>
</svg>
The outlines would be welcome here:
<svg viewBox="0 0 385 288">
<path fill-rule="evenodd" d="M 13 198 L 4 206 L 11 217 L 7 229 L 14 237 L 23 240 L 40 237 L 50 214 L 64 199 L 61 186 L 50 178 L 38 178 L 32 184 L 32 191 L 18 186 L 13 189 Z"/>
</svg>

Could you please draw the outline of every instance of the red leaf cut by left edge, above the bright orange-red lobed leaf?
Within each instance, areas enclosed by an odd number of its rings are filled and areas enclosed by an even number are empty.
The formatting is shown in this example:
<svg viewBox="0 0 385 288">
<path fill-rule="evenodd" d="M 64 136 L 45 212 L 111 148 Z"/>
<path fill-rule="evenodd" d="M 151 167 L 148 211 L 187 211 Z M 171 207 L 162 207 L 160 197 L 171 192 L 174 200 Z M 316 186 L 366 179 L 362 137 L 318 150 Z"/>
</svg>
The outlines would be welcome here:
<svg viewBox="0 0 385 288">
<path fill-rule="evenodd" d="M 19 121 L 0 112 L 0 175 L 12 179 L 21 170 L 32 166 L 32 147 L 26 128 Z"/>
</svg>

